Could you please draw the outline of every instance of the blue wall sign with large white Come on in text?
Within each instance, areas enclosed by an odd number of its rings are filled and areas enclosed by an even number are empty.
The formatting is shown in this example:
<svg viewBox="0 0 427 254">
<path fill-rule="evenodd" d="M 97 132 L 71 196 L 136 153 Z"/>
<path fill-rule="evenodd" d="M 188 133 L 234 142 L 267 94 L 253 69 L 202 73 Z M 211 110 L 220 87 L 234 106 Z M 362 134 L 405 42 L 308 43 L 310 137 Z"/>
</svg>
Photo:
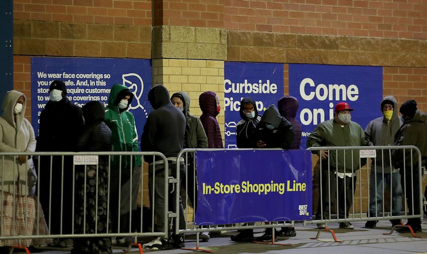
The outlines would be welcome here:
<svg viewBox="0 0 427 254">
<path fill-rule="evenodd" d="M 295 119 L 302 126 L 301 149 L 317 124 L 334 117 L 335 105 L 347 102 L 351 121 L 363 129 L 381 116 L 383 68 L 345 65 L 289 65 L 289 94 L 299 101 Z"/>
</svg>

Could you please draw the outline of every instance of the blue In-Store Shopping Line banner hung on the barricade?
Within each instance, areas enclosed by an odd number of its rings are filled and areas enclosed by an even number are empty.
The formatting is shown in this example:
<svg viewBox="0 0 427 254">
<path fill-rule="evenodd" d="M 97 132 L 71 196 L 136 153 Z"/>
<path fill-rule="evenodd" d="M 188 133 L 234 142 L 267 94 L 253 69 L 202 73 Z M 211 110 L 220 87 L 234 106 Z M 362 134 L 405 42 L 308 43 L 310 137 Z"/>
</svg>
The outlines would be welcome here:
<svg viewBox="0 0 427 254">
<path fill-rule="evenodd" d="M 196 165 L 197 225 L 311 219 L 310 151 L 197 151 Z"/>
</svg>

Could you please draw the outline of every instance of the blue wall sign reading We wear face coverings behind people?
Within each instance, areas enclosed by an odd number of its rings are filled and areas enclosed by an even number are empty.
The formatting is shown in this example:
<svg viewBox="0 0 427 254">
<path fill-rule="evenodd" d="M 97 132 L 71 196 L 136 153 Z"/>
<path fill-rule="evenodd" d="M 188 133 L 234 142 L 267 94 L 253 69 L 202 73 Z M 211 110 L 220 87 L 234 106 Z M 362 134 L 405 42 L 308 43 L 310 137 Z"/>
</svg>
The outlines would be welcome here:
<svg viewBox="0 0 427 254">
<path fill-rule="evenodd" d="M 120 83 L 134 94 L 129 111 L 135 116 L 138 136 L 151 111 L 150 103 L 144 103 L 151 89 L 150 59 L 108 58 L 31 58 L 31 118 L 38 133 L 40 112 L 49 101 L 49 85 L 53 80 L 63 80 L 67 86 L 67 98 L 71 103 L 83 106 L 92 100 L 108 105 L 111 87 Z"/>
</svg>

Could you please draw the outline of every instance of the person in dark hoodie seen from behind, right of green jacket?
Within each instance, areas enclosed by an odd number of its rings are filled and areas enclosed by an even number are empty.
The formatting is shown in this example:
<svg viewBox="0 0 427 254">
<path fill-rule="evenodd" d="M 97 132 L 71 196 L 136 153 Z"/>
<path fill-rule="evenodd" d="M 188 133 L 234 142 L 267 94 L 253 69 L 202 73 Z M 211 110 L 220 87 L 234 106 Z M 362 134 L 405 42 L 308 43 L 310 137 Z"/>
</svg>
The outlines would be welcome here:
<svg viewBox="0 0 427 254">
<path fill-rule="evenodd" d="M 176 160 L 178 153 L 183 149 L 184 135 L 186 120 L 181 110 L 172 105 L 170 101 L 169 92 L 166 87 L 162 85 L 154 86 L 148 93 L 148 100 L 151 103 L 153 111 L 149 114 L 147 121 L 144 125 L 144 130 L 141 139 L 142 151 L 156 151 L 164 154 L 168 159 L 169 176 L 174 176 L 176 170 Z M 155 231 L 164 231 L 164 209 L 165 206 L 169 207 L 169 210 L 173 210 L 175 204 L 175 192 L 169 193 L 169 204 L 165 204 L 164 193 L 164 163 L 161 161 L 152 161 L 151 156 L 145 157 L 146 162 L 149 162 L 149 170 L 152 170 L 153 163 L 155 164 L 155 177 L 154 186 L 153 174 L 149 172 L 149 191 L 150 198 L 154 192 L 155 206 L 152 207 L 154 210 L 154 219 L 158 222 Z M 181 158 L 180 169 L 181 179 L 185 174 L 184 158 Z M 178 185 L 179 186 L 179 185 Z M 173 189 L 170 187 L 170 189 Z M 177 188 L 175 188 L 176 190 Z M 179 188 L 178 188 L 179 189 Z M 180 210 L 179 210 L 179 224 L 181 229 L 185 229 L 184 209 L 182 207 L 181 196 Z M 157 237 L 149 243 L 143 245 L 143 248 L 147 249 L 164 249 L 169 247 L 169 240 Z M 175 248 L 184 247 L 184 235 L 176 236 L 172 235 L 172 245 Z"/>
</svg>

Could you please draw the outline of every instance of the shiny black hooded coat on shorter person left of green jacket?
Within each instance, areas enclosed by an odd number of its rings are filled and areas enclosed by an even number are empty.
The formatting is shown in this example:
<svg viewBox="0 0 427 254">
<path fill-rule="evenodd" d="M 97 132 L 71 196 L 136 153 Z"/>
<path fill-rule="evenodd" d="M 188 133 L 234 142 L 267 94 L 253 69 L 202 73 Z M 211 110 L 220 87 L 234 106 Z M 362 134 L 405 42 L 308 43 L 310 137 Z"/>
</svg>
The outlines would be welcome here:
<svg viewBox="0 0 427 254">
<path fill-rule="evenodd" d="M 103 122 L 104 106 L 99 101 L 91 101 L 82 107 L 85 126 L 77 141 L 79 151 L 108 152 L 111 151 L 111 130 Z M 108 156 L 99 157 L 99 164 L 108 165 Z"/>
</svg>

